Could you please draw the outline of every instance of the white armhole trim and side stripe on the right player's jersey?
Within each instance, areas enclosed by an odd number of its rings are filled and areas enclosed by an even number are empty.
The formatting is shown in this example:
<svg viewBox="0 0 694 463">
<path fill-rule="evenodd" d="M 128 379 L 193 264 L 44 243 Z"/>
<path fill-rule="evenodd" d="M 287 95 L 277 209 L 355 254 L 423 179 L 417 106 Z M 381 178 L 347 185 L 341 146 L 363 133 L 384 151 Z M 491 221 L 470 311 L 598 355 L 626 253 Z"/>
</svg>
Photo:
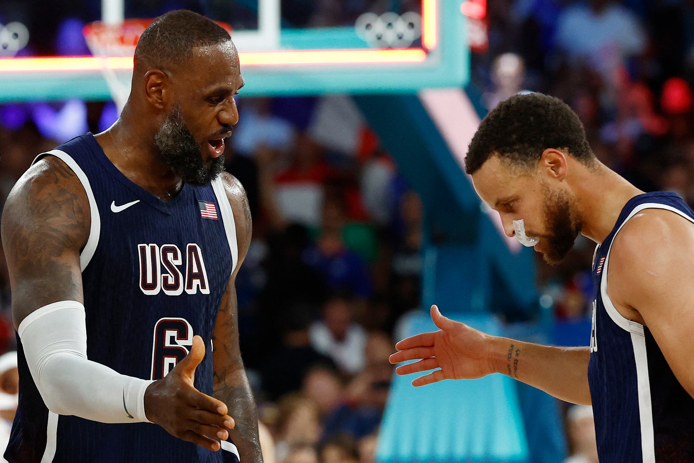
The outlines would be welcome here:
<svg viewBox="0 0 694 463">
<path fill-rule="evenodd" d="M 634 215 L 644 209 L 664 209 L 675 212 L 694 224 L 694 219 L 677 208 L 671 205 L 661 203 L 643 203 L 639 204 L 629 212 L 627 218 L 620 224 L 617 233 L 622 229 L 624 224 L 629 221 Z M 614 237 L 612 238 L 614 242 Z M 651 403 L 650 393 L 650 378 L 648 376 L 648 353 L 646 351 L 646 339 L 643 331 L 643 325 L 636 321 L 629 320 L 618 312 L 607 294 L 607 267 L 609 264 L 609 254 L 612 248 L 612 243 L 607 250 L 604 267 L 602 268 L 602 278 L 600 280 L 600 296 L 602 304 L 607 310 L 607 314 L 614 323 L 623 330 L 630 332 L 632 337 L 632 347 L 634 348 L 634 361 L 636 362 L 636 385 L 638 387 L 638 419 L 641 423 L 641 454 L 643 455 L 643 463 L 655 463 L 655 444 L 653 431 L 653 408 Z"/>
</svg>

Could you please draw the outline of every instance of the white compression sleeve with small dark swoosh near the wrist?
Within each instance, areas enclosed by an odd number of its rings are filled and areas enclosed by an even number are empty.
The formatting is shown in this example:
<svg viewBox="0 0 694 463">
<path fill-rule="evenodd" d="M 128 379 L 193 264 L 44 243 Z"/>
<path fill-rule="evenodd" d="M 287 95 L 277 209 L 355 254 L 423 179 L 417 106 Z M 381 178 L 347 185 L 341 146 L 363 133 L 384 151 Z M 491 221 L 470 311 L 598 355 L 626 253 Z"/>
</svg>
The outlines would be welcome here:
<svg viewBox="0 0 694 463">
<path fill-rule="evenodd" d="M 45 305 L 29 314 L 17 332 L 31 376 L 51 412 L 101 423 L 149 422 L 144 390 L 153 381 L 121 375 L 87 360 L 81 303 Z"/>
</svg>

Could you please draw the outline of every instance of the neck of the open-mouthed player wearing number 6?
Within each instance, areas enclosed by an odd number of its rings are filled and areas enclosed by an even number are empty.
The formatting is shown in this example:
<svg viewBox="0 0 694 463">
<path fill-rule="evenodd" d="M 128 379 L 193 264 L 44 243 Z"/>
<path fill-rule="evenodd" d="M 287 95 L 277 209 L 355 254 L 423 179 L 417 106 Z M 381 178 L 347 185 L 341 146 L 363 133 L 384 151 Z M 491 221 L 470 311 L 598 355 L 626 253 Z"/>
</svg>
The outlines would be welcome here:
<svg viewBox="0 0 694 463">
<path fill-rule="evenodd" d="M 137 124 L 128 106 L 108 131 L 96 135 L 105 155 L 133 183 L 164 201 L 172 199 L 183 181 L 160 160 L 154 133 Z"/>
</svg>

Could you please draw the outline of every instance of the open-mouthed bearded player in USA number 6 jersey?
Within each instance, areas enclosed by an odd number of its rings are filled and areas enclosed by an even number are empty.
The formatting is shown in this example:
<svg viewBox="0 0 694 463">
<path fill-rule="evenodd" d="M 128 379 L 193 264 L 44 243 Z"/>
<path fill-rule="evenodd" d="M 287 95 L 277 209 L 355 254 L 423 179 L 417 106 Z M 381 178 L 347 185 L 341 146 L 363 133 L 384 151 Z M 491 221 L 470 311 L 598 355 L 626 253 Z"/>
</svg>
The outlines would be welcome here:
<svg viewBox="0 0 694 463">
<path fill-rule="evenodd" d="M 12 189 L 8 462 L 262 462 L 234 285 L 251 215 L 222 171 L 243 85 L 223 28 L 169 12 L 137 44 L 118 121 Z"/>
</svg>

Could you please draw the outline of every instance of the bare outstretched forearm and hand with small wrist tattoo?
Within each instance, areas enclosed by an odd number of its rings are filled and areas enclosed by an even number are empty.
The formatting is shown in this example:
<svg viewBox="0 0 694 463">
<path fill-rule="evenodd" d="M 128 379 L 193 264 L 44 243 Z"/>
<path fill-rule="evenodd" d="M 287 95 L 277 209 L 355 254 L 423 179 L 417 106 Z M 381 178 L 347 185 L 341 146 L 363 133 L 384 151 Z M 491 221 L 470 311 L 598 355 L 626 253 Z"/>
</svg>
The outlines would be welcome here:
<svg viewBox="0 0 694 463">
<path fill-rule="evenodd" d="M 396 344 L 400 352 L 390 357 L 391 363 L 421 359 L 400 365 L 396 369 L 400 375 L 434 369 L 432 373 L 412 381 L 413 385 L 503 373 L 561 400 L 591 404 L 588 347 L 539 346 L 493 337 L 443 317 L 436 305 L 432 306 L 431 314 L 441 330 L 403 339 Z"/>
</svg>

